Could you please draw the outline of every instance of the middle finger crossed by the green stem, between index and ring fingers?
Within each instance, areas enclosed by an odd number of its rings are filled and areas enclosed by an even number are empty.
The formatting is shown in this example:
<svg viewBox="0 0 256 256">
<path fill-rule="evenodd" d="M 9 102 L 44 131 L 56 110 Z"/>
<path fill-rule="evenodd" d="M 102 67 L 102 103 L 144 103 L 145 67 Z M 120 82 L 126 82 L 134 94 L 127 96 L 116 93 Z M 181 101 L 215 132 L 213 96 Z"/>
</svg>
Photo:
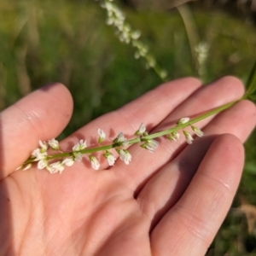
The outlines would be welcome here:
<svg viewBox="0 0 256 256">
<path fill-rule="evenodd" d="M 219 79 L 196 90 L 193 95 L 174 109 L 154 131 L 172 127 L 178 119 L 216 108 L 226 102 L 240 98 L 242 94 L 243 85 L 238 79 L 232 77 Z M 201 126 L 207 125 L 211 119 L 202 120 Z M 124 183 L 129 184 L 131 189 L 139 191 L 155 172 L 158 172 L 162 166 L 172 160 L 184 147 L 183 136 L 178 143 L 170 143 L 166 138 L 160 138 L 158 141 L 160 145 L 154 155 L 138 147 L 138 145 L 134 145 L 129 148 L 132 155 L 131 166 L 124 166 L 117 161 L 113 167 L 112 170 L 116 172 L 116 176 L 122 179 Z"/>
</svg>

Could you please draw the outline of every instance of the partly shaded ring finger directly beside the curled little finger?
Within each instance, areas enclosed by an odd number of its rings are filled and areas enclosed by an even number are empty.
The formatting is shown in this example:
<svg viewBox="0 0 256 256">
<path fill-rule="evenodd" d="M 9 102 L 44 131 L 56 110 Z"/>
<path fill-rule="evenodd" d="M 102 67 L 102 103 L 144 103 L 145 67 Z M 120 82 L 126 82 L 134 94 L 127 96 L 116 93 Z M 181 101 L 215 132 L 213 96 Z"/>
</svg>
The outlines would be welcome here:
<svg viewBox="0 0 256 256">
<path fill-rule="evenodd" d="M 254 104 L 248 101 L 220 113 L 204 129 L 204 137 L 184 148 L 148 181 L 137 195 L 137 201 L 143 212 L 153 219 L 153 227 L 183 195 L 214 138 L 226 132 L 243 143 L 254 128 L 255 114 Z"/>
</svg>

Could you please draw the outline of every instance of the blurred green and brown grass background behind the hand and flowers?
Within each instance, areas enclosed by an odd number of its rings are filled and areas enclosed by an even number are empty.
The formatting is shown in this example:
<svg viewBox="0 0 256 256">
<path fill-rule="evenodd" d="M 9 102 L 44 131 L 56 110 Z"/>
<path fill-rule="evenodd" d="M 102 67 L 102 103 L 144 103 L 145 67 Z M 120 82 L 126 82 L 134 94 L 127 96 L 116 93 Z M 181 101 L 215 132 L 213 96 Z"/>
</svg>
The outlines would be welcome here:
<svg viewBox="0 0 256 256">
<path fill-rule="evenodd" d="M 253 5 L 179 3 L 117 2 L 131 26 L 143 33 L 143 42 L 167 70 L 168 79 L 200 73 L 205 83 L 224 75 L 246 81 L 256 56 Z M 105 20 L 104 10 L 89 0 L 1 1 L 0 110 L 44 84 L 66 84 L 74 99 L 73 119 L 61 134 L 67 137 L 160 84 Z M 195 52 L 200 43 L 208 46 L 201 72 Z M 256 255 L 255 142 L 254 132 L 246 143 L 240 189 L 207 255 Z"/>
</svg>

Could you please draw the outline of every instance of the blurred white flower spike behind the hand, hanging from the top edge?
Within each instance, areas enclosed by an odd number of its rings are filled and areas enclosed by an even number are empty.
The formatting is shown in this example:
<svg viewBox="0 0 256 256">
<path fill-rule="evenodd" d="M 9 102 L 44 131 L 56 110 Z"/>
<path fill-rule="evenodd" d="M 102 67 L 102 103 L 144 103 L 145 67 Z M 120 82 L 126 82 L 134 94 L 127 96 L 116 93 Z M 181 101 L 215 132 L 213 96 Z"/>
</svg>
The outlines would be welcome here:
<svg viewBox="0 0 256 256">
<path fill-rule="evenodd" d="M 166 70 L 157 67 L 156 61 L 152 55 L 148 53 L 147 45 L 138 39 L 141 36 L 141 32 L 133 30 L 131 26 L 125 22 L 125 15 L 123 12 L 113 3 L 113 1 L 105 0 L 102 2 L 102 8 L 107 10 L 107 24 L 108 26 L 114 26 L 119 40 L 125 44 L 131 44 L 135 49 L 135 58 L 143 57 L 147 61 L 147 67 L 152 67 L 159 74 L 160 79 L 166 79 Z"/>
</svg>

